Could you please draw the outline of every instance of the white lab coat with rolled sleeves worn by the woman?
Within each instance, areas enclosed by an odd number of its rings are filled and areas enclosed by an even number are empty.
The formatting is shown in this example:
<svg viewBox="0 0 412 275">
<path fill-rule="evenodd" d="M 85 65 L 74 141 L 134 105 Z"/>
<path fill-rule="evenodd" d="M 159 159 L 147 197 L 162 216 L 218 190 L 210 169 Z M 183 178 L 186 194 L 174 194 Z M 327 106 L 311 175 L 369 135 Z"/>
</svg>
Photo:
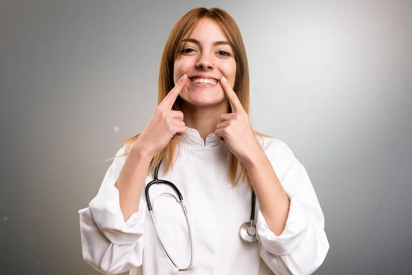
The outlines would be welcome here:
<svg viewBox="0 0 412 275">
<path fill-rule="evenodd" d="M 159 179 L 176 184 L 183 195 L 194 237 L 194 268 L 181 274 L 312 274 L 329 250 L 324 218 L 308 174 L 290 148 L 264 137 L 264 152 L 290 198 L 286 228 L 276 236 L 257 202 L 258 242 L 245 243 L 239 228 L 250 219 L 251 191 L 231 187 L 225 159 L 229 149 L 214 133 L 204 143 L 197 130 L 186 128 L 174 167 Z M 179 150 L 179 147 L 176 148 Z M 123 154 L 124 147 L 118 152 Z M 89 207 L 79 211 L 82 254 L 104 274 L 179 274 L 157 239 L 144 191 L 139 211 L 125 222 L 114 186 L 126 156 L 116 158 Z M 152 174 L 146 178 L 146 184 Z M 166 185 L 150 187 L 155 219 L 165 248 L 181 267 L 190 261 L 190 239 L 176 194 Z"/>
</svg>

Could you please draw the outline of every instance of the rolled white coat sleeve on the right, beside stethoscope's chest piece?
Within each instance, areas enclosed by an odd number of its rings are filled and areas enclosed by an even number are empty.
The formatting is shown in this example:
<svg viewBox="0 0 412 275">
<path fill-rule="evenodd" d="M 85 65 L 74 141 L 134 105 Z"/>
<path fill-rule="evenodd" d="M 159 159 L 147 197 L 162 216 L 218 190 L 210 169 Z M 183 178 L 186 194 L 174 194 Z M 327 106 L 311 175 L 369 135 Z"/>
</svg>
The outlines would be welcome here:
<svg viewBox="0 0 412 275">
<path fill-rule="evenodd" d="M 260 256 L 277 275 L 312 274 L 329 250 L 317 195 L 306 169 L 286 143 L 273 139 L 264 151 L 290 199 L 290 208 L 284 231 L 278 236 L 258 210 Z"/>
</svg>

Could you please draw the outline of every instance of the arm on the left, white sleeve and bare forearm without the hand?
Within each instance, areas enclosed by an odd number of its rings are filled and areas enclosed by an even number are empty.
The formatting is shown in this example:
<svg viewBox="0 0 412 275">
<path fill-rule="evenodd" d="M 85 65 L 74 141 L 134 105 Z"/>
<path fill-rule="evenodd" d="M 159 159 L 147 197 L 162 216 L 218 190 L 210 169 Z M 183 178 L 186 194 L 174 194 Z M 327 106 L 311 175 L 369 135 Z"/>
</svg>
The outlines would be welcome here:
<svg viewBox="0 0 412 275">
<path fill-rule="evenodd" d="M 124 147 L 116 156 L 122 154 Z M 79 211 L 83 259 L 104 274 L 126 272 L 142 263 L 146 204 L 139 189 L 148 164 L 136 156 L 115 158 L 98 195 Z M 138 194 L 122 195 L 125 192 Z"/>
</svg>

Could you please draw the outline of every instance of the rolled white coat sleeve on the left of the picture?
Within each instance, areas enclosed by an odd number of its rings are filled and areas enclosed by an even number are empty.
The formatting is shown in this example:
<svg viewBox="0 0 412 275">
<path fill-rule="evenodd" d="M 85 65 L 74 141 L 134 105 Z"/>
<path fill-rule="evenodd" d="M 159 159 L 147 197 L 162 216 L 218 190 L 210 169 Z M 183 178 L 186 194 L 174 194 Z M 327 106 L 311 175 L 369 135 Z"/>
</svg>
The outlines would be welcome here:
<svg viewBox="0 0 412 275">
<path fill-rule="evenodd" d="M 116 156 L 124 154 L 124 149 Z M 79 211 L 83 259 L 104 274 L 126 272 L 142 263 L 146 204 L 140 200 L 139 210 L 125 222 L 115 187 L 125 159 L 113 160 L 98 195 Z"/>
</svg>

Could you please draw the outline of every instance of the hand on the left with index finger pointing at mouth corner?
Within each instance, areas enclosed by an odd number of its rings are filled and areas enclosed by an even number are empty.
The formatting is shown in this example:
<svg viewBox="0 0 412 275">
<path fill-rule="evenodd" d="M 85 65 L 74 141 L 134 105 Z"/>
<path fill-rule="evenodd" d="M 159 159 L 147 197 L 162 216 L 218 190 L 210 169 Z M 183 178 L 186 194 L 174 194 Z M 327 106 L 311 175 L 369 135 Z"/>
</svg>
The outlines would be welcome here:
<svg viewBox="0 0 412 275">
<path fill-rule="evenodd" d="M 144 150 L 146 154 L 155 156 L 163 150 L 170 140 L 181 139 L 185 133 L 185 123 L 183 122 L 183 112 L 172 110 L 174 101 L 187 82 L 187 75 L 184 74 L 176 83 L 176 86 L 165 96 L 163 101 L 155 108 L 148 124 L 141 132 L 139 138 L 133 145 L 136 150 Z"/>
</svg>

